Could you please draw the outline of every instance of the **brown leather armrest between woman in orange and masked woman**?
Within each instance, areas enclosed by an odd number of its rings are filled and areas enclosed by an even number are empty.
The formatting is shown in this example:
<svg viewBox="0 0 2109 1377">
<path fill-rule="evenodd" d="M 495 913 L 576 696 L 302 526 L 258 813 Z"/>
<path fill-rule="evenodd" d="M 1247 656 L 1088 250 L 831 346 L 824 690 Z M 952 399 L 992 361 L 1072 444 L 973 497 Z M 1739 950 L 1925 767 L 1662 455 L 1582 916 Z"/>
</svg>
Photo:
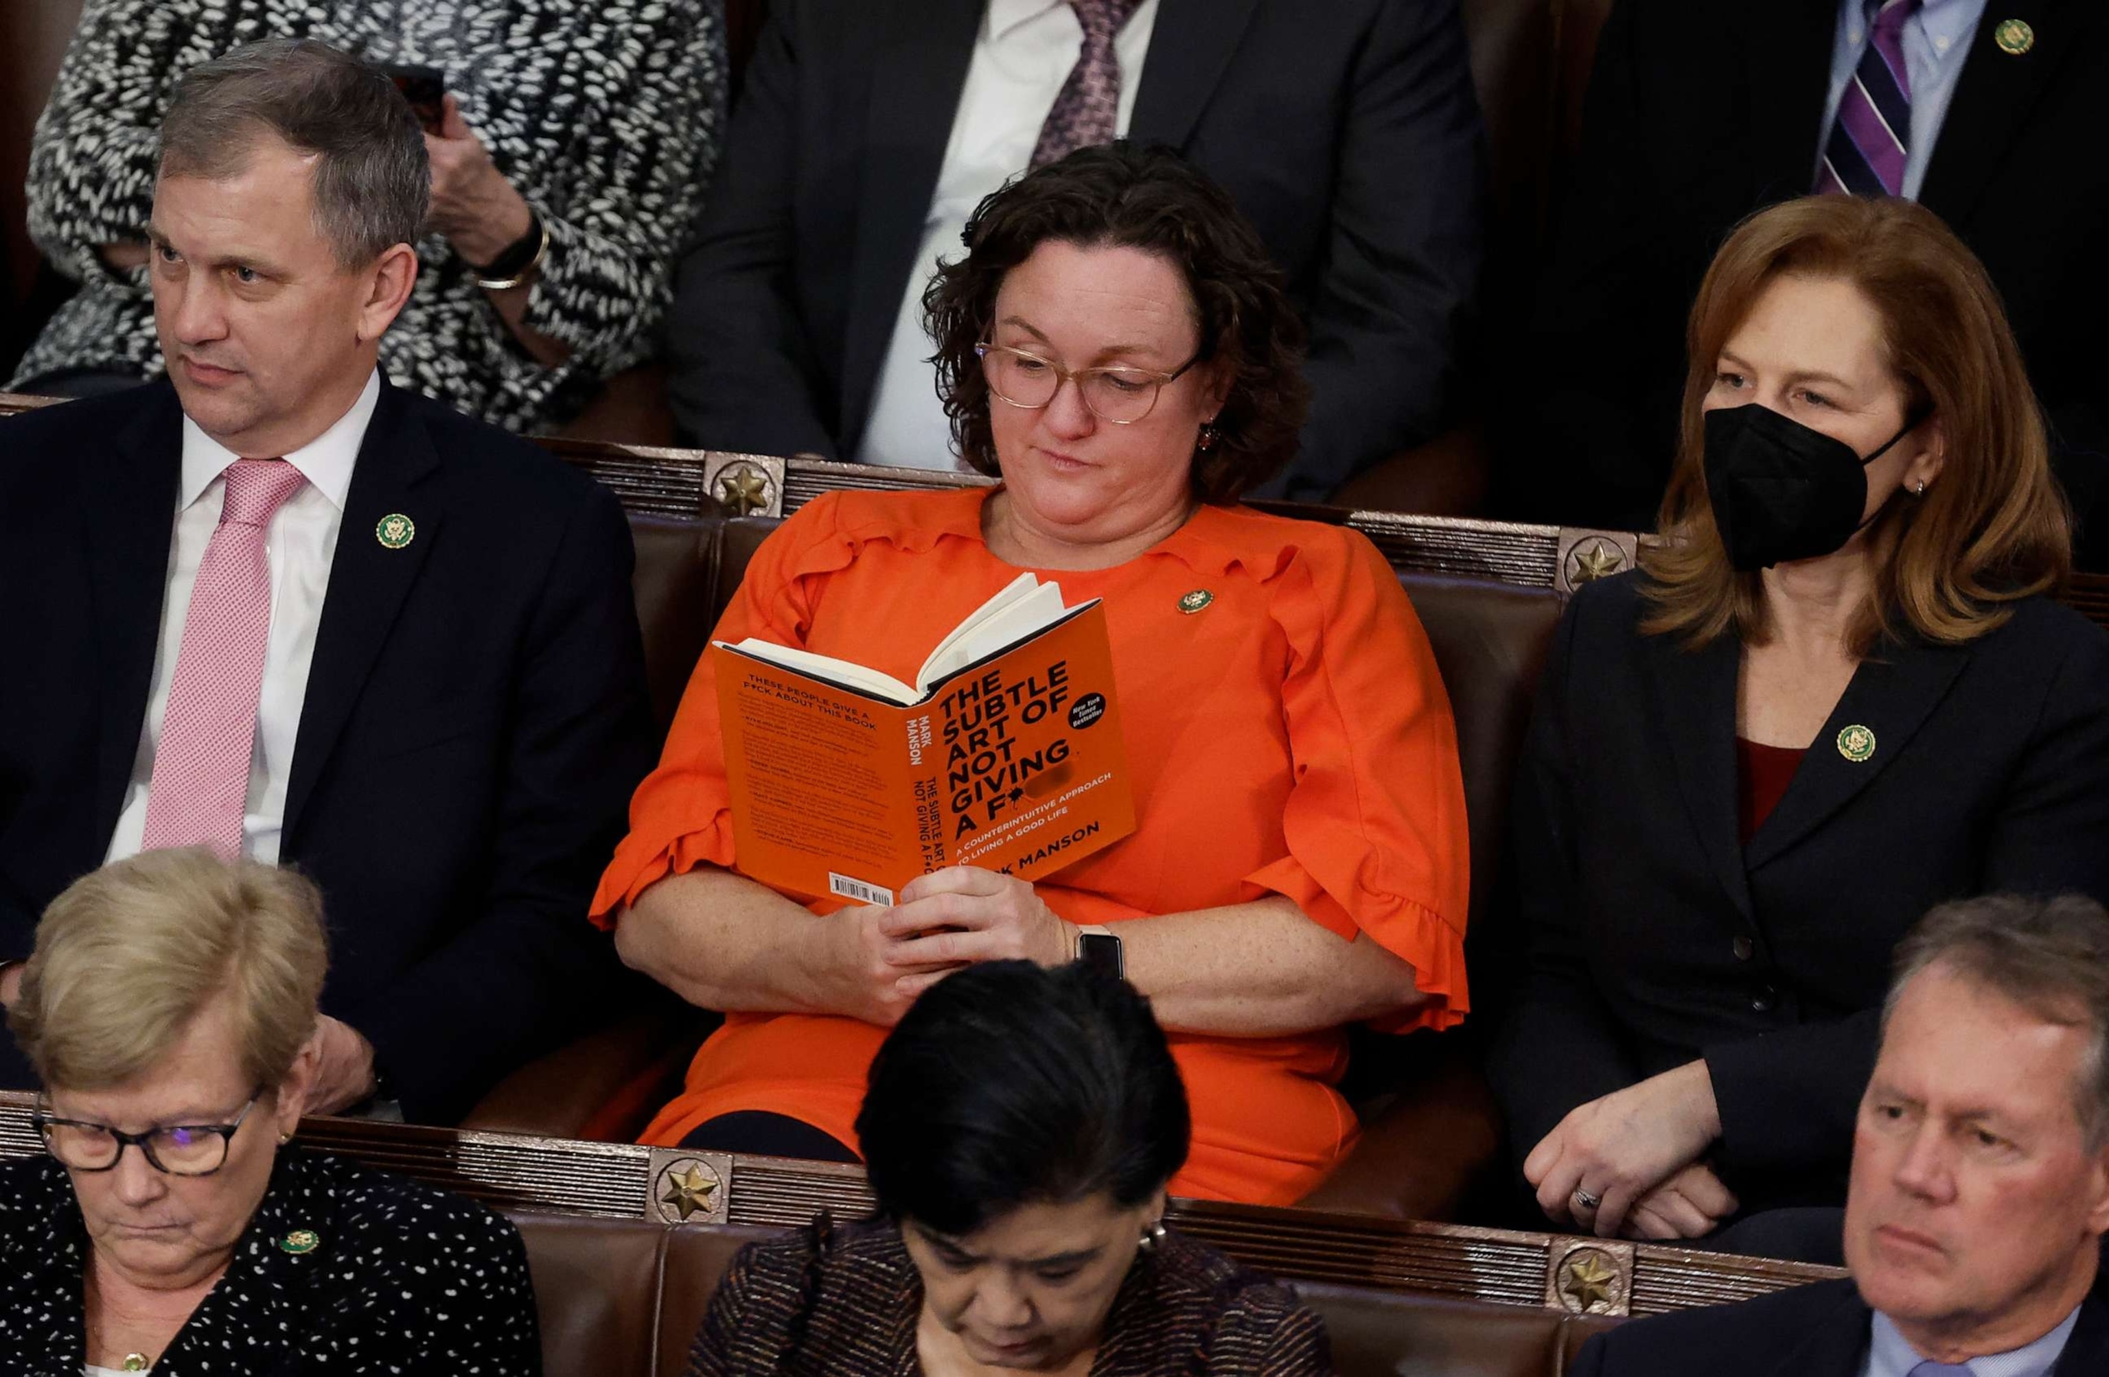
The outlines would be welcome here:
<svg viewBox="0 0 2109 1377">
<path fill-rule="evenodd" d="M 1356 1101 L 1362 1139 L 1299 1204 L 1384 1219 L 1451 1221 L 1495 1166 L 1502 1116 L 1470 1048 L 1451 1035 L 1398 1040 L 1424 1056 L 1409 1080 Z"/>
</svg>

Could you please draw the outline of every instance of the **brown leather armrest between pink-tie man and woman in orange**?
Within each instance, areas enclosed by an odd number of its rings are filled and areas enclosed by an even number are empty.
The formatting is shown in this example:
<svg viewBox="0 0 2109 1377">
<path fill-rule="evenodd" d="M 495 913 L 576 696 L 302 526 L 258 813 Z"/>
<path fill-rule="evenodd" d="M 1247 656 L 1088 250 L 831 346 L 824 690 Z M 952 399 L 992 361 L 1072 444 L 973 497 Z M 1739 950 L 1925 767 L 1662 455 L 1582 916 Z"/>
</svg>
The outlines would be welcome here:
<svg viewBox="0 0 2109 1377">
<path fill-rule="evenodd" d="M 681 1092 L 715 1014 L 652 1010 L 586 1033 L 498 1082 L 462 1128 L 635 1143 Z"/>
</svg>

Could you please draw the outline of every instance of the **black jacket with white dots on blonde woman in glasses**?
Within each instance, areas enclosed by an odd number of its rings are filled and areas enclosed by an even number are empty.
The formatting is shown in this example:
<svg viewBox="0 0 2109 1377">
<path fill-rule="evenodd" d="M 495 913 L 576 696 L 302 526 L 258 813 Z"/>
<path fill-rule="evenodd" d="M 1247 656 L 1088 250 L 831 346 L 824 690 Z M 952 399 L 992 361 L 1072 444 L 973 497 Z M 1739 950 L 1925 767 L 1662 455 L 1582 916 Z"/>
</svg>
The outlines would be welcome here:
<svg viewBox="0 0 2109 1377">
<path fill-rule="evenodd" d="M 280 1246 L 297 1229 L 312 1248 Z M 65 1168 L 0 1166 L 0 1373 L 82 1369 L 86 1259 Z M 154 1377 L 540 1371 L 527 1248 L 510 1221 L 297 1147 L 280 1149 L 234 1261 L 154 1360 Z"/>
</svg>

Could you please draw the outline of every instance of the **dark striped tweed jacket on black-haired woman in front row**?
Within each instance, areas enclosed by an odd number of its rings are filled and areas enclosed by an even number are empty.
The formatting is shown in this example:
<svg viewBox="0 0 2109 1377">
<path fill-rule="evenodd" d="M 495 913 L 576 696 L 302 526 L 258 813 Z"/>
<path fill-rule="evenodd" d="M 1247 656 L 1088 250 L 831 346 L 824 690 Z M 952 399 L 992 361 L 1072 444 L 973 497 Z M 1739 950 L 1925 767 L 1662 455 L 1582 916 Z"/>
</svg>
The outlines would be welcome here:
<svg viewBox="0 0 2109 1377">
<path fill-rule="evenodd" d="M 915 1377 L 922 1278 L 886 1223 L 747 1244 L 696 1331 L 690 1377 Z M 1128 1267 L 1090 1377 L 1318 1377 L 1324 1322 L 1276 1282 L 1166 1234 Z"/>
</svg>

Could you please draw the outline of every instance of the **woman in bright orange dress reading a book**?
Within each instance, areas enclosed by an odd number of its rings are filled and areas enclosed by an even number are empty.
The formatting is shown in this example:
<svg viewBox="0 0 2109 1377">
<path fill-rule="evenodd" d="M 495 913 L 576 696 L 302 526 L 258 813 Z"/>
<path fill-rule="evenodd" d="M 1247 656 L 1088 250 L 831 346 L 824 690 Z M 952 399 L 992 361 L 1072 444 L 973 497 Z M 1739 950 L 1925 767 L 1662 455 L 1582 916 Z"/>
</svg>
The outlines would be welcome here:
<svg viewBox="0 0 2109 1377">
<path fill-rule="evenodd" d="M 1027 884 L 892 907 L 738 873 L 715 656 L 593 913 L 725 1010 L 645 1141 L 854 1160 L 865 1069 L 949 972 L 1111 928 L 1194 1097 L 1189 1196 L 1291 1202 L 1356 1137 L 1350 1023 L 1464 1016 L 1466 822 L 1428 637 L 1360 534 L 1240 491 L 1303 415 L 1299 327 L 1253 228 L 1168 152 L 1090 148 L 989 196 L 926 302 L 962 451 L 995 487 L 835 491 L 755 552 L 715 639 L 907 671 L 1031 569 L 1101 599 L 1137 829 Z"/>
</svg>

